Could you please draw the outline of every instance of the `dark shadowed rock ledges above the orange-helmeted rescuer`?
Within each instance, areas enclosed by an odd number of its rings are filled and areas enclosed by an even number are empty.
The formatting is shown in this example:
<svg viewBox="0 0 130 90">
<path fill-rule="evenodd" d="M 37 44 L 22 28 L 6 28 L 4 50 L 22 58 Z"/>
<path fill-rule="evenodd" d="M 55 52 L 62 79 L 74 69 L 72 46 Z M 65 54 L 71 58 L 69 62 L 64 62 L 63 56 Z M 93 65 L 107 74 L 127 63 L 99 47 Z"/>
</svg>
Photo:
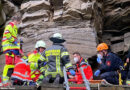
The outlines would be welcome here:
<svg viewBox="0 0 130 90">
<path fill-rule="evenodd" d="M 104 6 L 103 39 L 123 54 L 130 46 L 130 0 L 105 0 Z"/>
</svg>

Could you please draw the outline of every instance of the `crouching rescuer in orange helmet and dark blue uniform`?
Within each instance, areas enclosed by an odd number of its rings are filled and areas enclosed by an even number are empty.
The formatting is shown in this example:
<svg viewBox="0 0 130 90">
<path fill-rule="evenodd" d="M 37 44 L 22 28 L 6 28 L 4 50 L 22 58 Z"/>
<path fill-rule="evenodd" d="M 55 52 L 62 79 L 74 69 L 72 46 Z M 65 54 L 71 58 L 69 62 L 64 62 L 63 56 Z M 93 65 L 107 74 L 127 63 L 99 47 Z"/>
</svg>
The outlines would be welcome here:
<svg viewBox="0 0 130 90">
<path fill-rule="evenodd" d="M 97 46 L 98 58 L 100 63 L 99 69 L 94 73 L 95 76 L 99 76 L 105 79 L 111 84 L 121 84 L 120 69 L 123 66 L 122 60 L 114 53 L 108 51 L 108 45 L 106 43 L 100 43 Z"/>
</svg>

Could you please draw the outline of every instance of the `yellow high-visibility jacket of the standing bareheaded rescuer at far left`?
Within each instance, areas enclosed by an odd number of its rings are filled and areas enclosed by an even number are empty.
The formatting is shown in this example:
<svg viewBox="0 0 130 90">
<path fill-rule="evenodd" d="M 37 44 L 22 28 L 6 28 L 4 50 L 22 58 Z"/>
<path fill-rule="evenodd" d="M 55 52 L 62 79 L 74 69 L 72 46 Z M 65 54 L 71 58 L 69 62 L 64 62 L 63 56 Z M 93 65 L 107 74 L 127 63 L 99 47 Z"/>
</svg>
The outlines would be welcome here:
<svg viewBox="0 0 130 90">
<path fill-rule="evenodd" d="M 6 52 L 7 50 L 20 49 L 19 43 L 17 45 L 14 44 L 14 41 L 17 40 L 17 33 L 18 28 L 12 22 L 5 27 L 2 38 L 3 52 Z"/>
</svg>

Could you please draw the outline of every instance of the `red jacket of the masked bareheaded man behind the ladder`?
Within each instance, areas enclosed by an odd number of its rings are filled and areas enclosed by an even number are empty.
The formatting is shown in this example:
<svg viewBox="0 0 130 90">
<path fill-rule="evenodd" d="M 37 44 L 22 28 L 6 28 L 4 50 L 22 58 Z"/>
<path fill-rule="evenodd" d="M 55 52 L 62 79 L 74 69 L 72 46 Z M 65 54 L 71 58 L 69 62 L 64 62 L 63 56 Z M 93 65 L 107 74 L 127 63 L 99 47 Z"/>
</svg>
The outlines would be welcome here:
<svg viewBox="0 0 130 90">
<path fill-rule="evenodd" d="M 75 79 L 77 80 L 77 83 L 83 83 L 82 73 L 80 70 L 80 67 L 83 68 L 83 72 L 85 74 L 86 79 L 92 80 L 93 79 L 93 72 L 91 66 L 88 64 L 86 59 L 80 58 L 80 61 L 76 64 L 76 75 Z"/>
</svg>

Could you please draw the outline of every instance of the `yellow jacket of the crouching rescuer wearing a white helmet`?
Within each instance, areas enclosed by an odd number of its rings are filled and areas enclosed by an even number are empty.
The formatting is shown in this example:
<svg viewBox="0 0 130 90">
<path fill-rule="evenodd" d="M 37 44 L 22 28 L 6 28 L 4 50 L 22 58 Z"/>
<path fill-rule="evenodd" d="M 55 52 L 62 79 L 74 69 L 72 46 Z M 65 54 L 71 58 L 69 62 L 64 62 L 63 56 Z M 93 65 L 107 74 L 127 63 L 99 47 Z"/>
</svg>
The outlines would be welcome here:
<svg viewBox="0 0 130 90">
<path fill-rule="evenodd" d="M 38 77 L 40 76 L 41 72 L 43 72 L 44 68 L 38 68 L 38 60 L 41 57 L 41 54 L 38 53 L 36 50 L 33 51 L 33 53 L 30 53 L 28 56 L 28 63 L 30 63 L 30 69 L 31 69 L 31 78 L 34 81 L 38 80 Z"/>
</svg>

